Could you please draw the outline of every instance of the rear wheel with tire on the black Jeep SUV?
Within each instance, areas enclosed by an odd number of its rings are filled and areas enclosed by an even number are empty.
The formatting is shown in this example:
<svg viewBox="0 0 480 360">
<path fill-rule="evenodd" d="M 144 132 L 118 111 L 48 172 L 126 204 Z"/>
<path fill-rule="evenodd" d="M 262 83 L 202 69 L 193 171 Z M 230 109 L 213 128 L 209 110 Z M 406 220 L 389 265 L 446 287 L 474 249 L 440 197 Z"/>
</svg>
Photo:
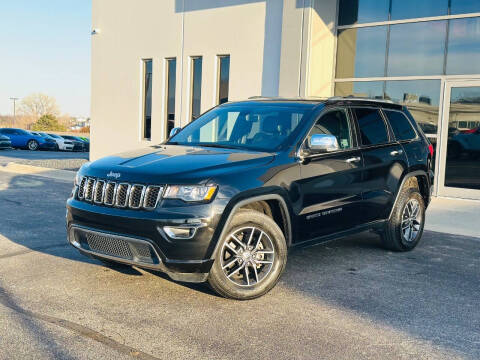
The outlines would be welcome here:
<svg viewBox="0 0 480 360">
<path fill-rule="evenodd" d="M 418 210 L 415 210 L 417 206 Z M 413 216 L 415 213 L 417 216 Z M 381 234 L 382 245 L 392 251 L 410 251 L 420 242 L 424 226 L 423 197 L 418 187 L 407 186 L 401 190 L 392 215 Z"/>
</svg>

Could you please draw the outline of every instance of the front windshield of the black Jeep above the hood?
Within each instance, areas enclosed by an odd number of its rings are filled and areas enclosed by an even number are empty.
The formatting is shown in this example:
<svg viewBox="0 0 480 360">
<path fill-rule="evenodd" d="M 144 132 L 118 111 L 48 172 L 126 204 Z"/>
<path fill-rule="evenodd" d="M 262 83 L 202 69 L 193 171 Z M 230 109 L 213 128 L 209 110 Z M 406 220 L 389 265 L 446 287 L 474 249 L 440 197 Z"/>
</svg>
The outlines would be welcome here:
<svg viewBox="0 0 480 360">
<path fill-rule="evenodd" d="M 273 151 L 314 104 L 239 104 L 217 107 L 185 127 L 168 144 Z"/>
</svg>

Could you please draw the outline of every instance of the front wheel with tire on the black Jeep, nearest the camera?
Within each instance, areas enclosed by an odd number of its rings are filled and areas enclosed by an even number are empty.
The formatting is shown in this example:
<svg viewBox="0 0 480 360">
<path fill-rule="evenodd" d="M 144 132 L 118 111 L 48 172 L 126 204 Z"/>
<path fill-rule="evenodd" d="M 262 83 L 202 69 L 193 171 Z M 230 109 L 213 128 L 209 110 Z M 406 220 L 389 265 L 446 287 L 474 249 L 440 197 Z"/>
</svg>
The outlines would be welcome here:
<svg viewBox="0 0 480 360">
<path fill-rule="evenodd" d="M 208 283 L 226 298 L 249 300 L 265 295 L 276 285 L 287 263 L 282 230 L 263 213 L 240 210 L 225 234 L 219 240 Z"/>
</svg>

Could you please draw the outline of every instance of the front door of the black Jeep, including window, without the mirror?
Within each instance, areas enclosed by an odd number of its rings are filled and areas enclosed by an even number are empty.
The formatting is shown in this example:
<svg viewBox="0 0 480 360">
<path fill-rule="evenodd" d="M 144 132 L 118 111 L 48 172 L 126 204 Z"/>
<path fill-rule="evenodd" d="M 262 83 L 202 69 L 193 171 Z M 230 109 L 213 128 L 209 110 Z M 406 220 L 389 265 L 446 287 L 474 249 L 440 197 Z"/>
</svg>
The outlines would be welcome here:
<svg viewBox="0 0 480 360">
<path fill-rule="evenodd" d="M 301 240 L 347 230 L 360 221 L 363 162 L 348 109 L 322 112 L 307 138 L 312 134 L 334 135 L 340 149 L 312 154 L 300 166 Z"/>
</svg>

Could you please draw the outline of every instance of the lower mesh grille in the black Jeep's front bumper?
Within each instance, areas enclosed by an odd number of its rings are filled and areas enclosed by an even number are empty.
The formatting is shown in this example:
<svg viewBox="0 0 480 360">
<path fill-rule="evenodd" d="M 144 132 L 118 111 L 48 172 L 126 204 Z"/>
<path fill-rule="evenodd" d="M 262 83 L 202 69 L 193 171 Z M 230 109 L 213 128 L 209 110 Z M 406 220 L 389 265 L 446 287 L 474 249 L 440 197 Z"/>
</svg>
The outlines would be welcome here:
<svg viewBox="0 0 480 360">
<path fill-rule="evenodd" d="M 75 246 L 97 255 L 128 260 L 140 264 L 161 262 L 153 246 L 146 240 L 73 227 L 70 239 Z"/>
</svg>

